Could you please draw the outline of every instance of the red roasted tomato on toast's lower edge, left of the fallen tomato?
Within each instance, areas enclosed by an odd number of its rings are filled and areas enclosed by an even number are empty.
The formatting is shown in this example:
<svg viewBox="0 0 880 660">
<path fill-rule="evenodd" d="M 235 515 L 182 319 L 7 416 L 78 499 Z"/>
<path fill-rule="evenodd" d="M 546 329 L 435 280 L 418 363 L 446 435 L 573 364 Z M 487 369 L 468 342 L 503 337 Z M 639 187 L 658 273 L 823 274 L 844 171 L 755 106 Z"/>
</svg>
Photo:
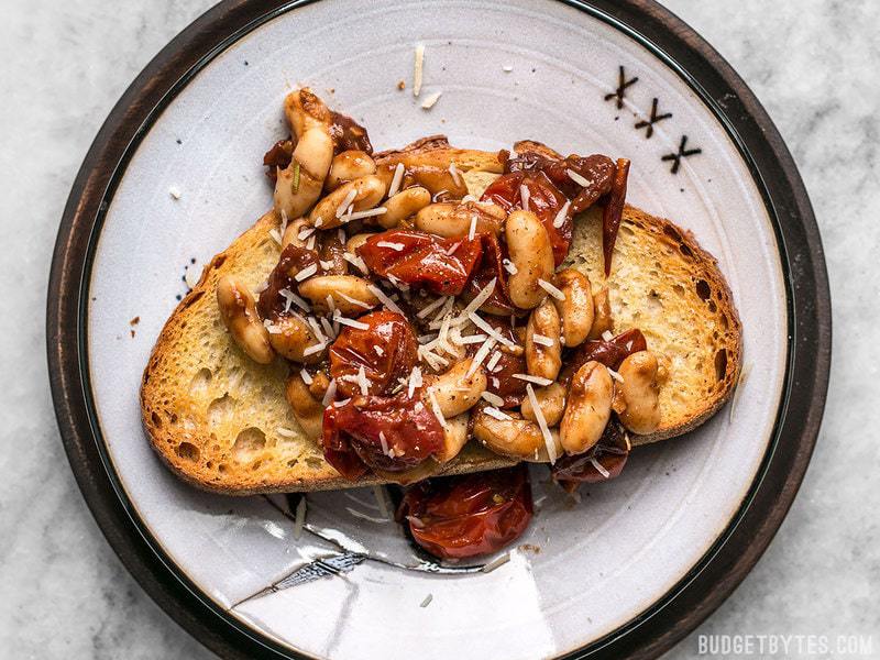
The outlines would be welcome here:
<svg viewBox="0 0 880 660">
<path fill-rule="evenodd" d="M 418 394 L 355 396 L 324 409 L 321 446 L 327 462 L 355 480 L 367 468 L 416 468 L 442 450 L 443 427 Z"/>
</svg>

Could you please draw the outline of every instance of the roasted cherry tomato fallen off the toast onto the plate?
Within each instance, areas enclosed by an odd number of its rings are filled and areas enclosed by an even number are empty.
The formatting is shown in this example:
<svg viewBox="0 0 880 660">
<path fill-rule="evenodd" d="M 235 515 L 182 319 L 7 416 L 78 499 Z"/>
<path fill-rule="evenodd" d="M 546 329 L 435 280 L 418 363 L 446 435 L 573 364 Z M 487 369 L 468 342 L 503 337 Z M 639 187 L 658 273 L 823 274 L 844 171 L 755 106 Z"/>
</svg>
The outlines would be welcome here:
<svg viewBox="0 0 880 660">
<path fill-rule="evenodd" d="M 398 519 L 431 554 L 466 559 L 517 539 L 531 514 L 529 472 L 520 464 L 419 482 L 404 495 Z"/>
</svg>

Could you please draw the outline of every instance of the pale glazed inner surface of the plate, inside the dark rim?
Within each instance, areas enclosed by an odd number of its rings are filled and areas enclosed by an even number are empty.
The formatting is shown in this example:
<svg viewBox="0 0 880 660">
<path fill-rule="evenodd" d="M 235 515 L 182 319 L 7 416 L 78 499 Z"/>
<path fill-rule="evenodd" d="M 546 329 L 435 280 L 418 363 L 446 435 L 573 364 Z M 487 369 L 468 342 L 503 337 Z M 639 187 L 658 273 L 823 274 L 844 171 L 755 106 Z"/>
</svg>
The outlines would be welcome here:
<svg viewBox="0 0 880 660">
<path fill-rule="evenodd" d="M 692 230 L 733 290 L 749 370 L 735 414 L 728 406 L 686 437 L 638 448 L 619 479 L 583 487 L 580 504 L 535 469 L 535 520 L 492 572 L 411 570 L 421 558 L 371 490 L 309 495 L 307 529 L 294 538 L 284 497 L 179 482 L 141 428 L 141 374 L 187 271 L 271 207 L 261 160 L 286 135 L 282 100 L 300 85 L 365 125 L 376 150 L 446 133 L 457 146 L 535 139 L 630 158 L 628 201 Z M 433 92 L 439 101 L 422 109 Z M 320 658 L 557 657 L 651 612 L 730 527 L 778 422 L 785 264 L 729 127 L 613 21 L 552 0 L 288 8 L 206 59 L 139 138 L 84 282 L 96 432 L 120 496 L 173 571 L 251 635 Z"/>
</svg>

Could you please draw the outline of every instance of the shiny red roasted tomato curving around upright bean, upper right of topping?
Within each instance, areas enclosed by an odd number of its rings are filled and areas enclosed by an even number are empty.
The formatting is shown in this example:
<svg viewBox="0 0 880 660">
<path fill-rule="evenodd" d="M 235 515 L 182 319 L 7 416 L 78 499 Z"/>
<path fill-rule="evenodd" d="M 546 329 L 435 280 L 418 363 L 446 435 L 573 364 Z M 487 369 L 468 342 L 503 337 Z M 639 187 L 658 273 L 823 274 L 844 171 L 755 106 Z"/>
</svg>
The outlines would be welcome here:
<svg viewBox="0 0 880 660">
<path fill-rule="evenodd" d="M 486 188 L 481 197 L 484 201 L 493 201 L 510 212 L 522 208 L 521 189 L 529 191 L 528 210 L 535 213 L 543 224 L 553 246 L 553 261 L 558 266 L 569 254 L 571 245 L 572 220 L 566 213 L 561 227 L 554 226 L 559 210 L 565 204 L 565 196 L 557 188 L 543 172 L 512 172 L 503 174 Z"/>
</svg>

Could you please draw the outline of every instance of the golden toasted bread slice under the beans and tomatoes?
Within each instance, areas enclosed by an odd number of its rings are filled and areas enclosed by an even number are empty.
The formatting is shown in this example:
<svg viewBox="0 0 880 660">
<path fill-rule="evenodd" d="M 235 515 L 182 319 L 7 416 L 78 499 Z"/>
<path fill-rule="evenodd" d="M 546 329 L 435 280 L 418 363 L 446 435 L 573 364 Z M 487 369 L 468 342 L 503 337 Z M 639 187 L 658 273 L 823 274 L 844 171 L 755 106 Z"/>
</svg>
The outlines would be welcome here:
<svg viewBox="0 0 880 660">
<path fill-rule="evenodd" d="M 468 173 L 471 191 L 495 176 Z M 277 263 L 270 211 L 205 268 L 162 330 L 143 375 L 141 408 L 153 447 L 185 481 L 232 495 L 320 491 L 383 483 L 342 479 L 320 447 L 306 438 L 284 395 L 287 365 L 250 360 L 227 332 L 217 307 L 220 277 L 235 275 L 251 289 Z M 661 425 L 641 444 L 698 426 L 730 396 L 741 359 L 741 329 L 715 260 L 690 233 L 627 207 L 613 271 L 602 273 L 601 220 L 575 221 L 570 265 L 594 289 L 610 290 L 614 331 L 638 327 L 661 359 Z M 443 474 L 479 472 L 510 461 L 470 441 Z"/>
</svg>

